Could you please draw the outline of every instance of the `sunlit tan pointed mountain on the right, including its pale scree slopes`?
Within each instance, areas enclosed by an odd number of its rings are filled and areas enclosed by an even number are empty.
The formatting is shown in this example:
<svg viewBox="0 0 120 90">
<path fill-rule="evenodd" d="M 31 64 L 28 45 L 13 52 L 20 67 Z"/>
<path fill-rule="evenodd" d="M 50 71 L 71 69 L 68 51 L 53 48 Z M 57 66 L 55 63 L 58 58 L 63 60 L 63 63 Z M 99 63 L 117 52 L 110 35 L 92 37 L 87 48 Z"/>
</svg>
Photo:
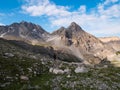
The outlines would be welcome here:
<svg viewBox="0 0 120 90">
<path fill-rule="evenodd" d="M 72 22 L 67 28 L 61 27 L 57 31 L 54 31 L 48 41 L 59 48 L 69 49 L 74 55 L 94 63 L 109 57 L 114 52 L 113 48 L 107 46 L 95 36 L 85 32 L 75 22 Z"/>
</svg>

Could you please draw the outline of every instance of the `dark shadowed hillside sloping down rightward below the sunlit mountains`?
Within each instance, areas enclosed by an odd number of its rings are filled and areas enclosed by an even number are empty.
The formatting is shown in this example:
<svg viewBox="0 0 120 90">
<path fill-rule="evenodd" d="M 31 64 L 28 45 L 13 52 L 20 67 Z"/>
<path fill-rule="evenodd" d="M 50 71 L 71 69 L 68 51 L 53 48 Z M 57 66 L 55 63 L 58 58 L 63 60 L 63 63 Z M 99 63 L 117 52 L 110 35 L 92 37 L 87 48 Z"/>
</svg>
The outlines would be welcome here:
<svg viewBox="0 0 120 90">
<path fill-rule="evenodd" d="M 33 57 L 39 59 L 40 56 L 67 62 L 81 62 L 82 59 L 74 55 L 54 50 L 51 46 L 38 46 L 25 43 L 23 41 L 5 40 L 0 38 L 0 54 L 12 53 L 19 57 Z M 54 55 L 56 58 L 54 58 Z"/>
</svg>

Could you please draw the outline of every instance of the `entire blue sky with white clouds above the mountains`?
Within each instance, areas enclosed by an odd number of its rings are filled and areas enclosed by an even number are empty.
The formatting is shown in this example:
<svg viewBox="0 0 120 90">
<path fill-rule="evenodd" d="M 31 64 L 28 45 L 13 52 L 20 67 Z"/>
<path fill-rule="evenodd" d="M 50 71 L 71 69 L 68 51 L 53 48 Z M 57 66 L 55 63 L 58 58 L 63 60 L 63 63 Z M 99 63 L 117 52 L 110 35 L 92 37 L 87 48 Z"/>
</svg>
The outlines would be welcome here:
<svg viewBox="0 0 120 90">
<path fill-rule="evenodd" d="M 120 36 L 120 0 L 0 0 L 0 25 L 21 21 L 48 32 L 76 22 L 97 37 Z"/>
</svg>

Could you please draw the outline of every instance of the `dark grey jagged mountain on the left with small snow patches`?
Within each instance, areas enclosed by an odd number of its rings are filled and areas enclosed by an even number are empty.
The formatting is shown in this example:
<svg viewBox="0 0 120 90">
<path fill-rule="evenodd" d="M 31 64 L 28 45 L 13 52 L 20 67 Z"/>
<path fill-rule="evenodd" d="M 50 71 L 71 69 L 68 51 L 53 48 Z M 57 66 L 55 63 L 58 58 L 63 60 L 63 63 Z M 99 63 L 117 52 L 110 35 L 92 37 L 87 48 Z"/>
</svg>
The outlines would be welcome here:
<svg viewBox="0 0 120 90">
<path fill-rule="evenodd" d="M 31 43 L 44 41 L 49 33 L 41 26 L 22 21 L 8 26 L 0 26 L 0 37 L 9 40 L 22 40 Z"/>
</svg>

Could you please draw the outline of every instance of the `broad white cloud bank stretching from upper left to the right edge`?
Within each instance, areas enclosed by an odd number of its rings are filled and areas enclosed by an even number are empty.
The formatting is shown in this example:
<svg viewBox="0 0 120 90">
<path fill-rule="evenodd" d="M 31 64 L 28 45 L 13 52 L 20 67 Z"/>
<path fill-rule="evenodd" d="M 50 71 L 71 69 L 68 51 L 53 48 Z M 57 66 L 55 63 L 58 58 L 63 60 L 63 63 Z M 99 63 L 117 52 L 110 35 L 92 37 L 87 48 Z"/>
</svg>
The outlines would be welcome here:
<svg viewBox="0 0 120 90">
<path fill-rule="evenodd" d="M 120 4 L 116 3 L 118 0 L 105 0 L 92 9 L 89 14 L 86 12 L 85 5 L 70 11 L 70 7 L 59 6 L 49 0 L 26 1 L 27 4 L 22 6 L 24 12 L 31 16 L 45 15 L 52 26 L 68 26 L 75 21 L 95 35 L 117 35 L 120 33 Z"/>
</svg>

